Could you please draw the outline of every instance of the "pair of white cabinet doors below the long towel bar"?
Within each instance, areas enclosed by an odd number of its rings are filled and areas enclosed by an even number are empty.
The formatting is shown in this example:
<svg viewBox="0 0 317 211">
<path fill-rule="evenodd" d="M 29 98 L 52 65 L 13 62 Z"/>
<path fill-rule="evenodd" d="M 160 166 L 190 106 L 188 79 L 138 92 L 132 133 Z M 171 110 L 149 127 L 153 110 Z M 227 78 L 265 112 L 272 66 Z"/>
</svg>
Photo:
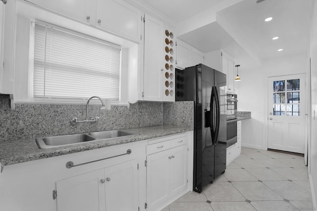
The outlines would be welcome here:
<svg viewBox="0 0 317 211">
<path fill-rule="evenodd" d="M 137 167 L 132 160 L 57 181 L 57 211 L 138 210 Z"/>
</svg>

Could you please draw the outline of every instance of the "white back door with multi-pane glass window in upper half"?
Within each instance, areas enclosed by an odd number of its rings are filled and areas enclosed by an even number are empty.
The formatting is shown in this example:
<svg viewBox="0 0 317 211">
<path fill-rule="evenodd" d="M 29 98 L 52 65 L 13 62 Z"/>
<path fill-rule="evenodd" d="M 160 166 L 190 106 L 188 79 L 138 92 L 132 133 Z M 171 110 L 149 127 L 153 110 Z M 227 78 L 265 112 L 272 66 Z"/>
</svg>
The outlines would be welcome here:
<svg viewBox="0 0 317 211">
<path fill-rule="evenodd" d="M 304 153 L 305 74 L 268 78 L 267 148 Z"/>
</svg>

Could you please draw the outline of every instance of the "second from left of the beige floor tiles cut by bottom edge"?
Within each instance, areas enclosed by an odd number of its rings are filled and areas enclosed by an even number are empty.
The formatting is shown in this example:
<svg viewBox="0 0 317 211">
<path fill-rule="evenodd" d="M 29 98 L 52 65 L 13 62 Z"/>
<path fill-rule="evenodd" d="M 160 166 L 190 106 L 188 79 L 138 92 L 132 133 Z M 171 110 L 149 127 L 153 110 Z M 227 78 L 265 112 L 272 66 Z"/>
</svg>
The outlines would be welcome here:
<svg viewBox="0 0 317 211">
<path fill-rule="evenodd" d="M 213 211 L 256 211 L 248 202 L 212 202 Z"/>
</svg>

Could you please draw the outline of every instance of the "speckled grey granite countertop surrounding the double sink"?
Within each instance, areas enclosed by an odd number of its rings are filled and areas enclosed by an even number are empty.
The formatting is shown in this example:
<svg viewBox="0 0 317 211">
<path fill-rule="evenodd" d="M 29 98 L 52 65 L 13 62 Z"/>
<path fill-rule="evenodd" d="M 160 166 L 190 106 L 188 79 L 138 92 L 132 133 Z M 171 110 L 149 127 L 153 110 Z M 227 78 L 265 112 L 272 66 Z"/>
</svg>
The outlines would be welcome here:
<svg viewBox="0 0 317 211">
<path fill-rule="evenodd" d="M 86 150 L 99 149 L 118 144 L 125 144 L 135 141 L 141 141 L 151 138 L 158 138 L 165 135 L 194 130 L 193 127 L 177 127 L 177 126 L 153 126 L 140 127 L 133 129 L 122 129 L 123 131 L 136 133 L 130 137 L 119 137 L 108 140 L 100 140 L 93 142 L 85 142 L 80 144 L 68 145 L 63 147 L 55 147 L 50 149 L 39 149 L 35 139 L 20 139 L 14 141 L 0 142 L 0 164 L 1 171 L 4 166 L 34 161 L 43 158 L 50 158 L 60 155 L 66 155 Z"/>
</svg>

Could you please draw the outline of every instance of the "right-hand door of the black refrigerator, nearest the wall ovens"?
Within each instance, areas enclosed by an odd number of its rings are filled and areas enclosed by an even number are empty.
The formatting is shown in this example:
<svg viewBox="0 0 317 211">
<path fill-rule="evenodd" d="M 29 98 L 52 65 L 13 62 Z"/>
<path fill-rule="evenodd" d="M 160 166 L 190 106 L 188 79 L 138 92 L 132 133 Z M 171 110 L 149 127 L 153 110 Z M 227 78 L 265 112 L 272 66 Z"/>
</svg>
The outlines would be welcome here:
<svg viewBox="0 0 317 211">
<path fill-rule="evenodd" d="M 227 115 L 226 115 L 226 75 L 214 70 L 214 86 L 216 87 L 218 99 L 217 129 L 218 134 L 214 142 L 214 177 L 217 177 L 226 169 L 227 154 Z"/>
</svg>

